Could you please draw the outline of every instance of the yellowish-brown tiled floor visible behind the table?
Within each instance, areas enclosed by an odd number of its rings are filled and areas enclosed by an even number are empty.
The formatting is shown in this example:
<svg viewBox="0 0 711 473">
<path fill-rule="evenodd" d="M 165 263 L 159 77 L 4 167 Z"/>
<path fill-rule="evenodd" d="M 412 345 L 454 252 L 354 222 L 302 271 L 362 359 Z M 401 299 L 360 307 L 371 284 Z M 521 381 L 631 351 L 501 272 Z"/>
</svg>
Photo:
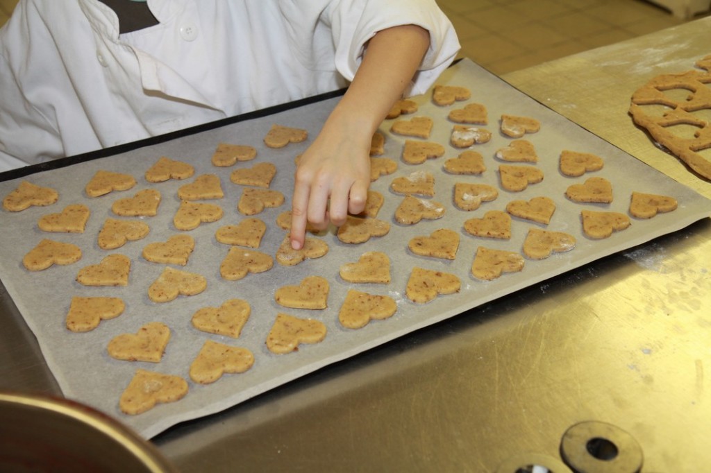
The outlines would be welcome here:
<svg viewBox="0 0 711 473">
<path fill-rule="evenodd" d="M 16 3 L 0 0 L 0 25 Z M 644 0 L 437 0 L 437 4 L 459 34 L 460 55 L 499 75 L 683 21 Z"/>
</svg>

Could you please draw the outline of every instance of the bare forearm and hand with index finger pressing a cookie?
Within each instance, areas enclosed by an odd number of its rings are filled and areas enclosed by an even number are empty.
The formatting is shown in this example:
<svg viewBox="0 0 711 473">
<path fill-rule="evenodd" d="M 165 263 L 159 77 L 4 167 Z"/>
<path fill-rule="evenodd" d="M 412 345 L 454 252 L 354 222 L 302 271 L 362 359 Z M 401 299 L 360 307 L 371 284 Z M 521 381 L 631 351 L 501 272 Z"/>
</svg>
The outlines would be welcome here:
<svg viewBox="0 0 711 473">
<path fill-rule="evenodd" d="M 363 212 L 370 185 L 370 141 L 400 99 L 429 48 L 415 25 L 375 33 L 343 98 L 299 158 L 292 198 L 292 246 L 304 244 L 306 222 L 324 229 Z"/>
</svg>

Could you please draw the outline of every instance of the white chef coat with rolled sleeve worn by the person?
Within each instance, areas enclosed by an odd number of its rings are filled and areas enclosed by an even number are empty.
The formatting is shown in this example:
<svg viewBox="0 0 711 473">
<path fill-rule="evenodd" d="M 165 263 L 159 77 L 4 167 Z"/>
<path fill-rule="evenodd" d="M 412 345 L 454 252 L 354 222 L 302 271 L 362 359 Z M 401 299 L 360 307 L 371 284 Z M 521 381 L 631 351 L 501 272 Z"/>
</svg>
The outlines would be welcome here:
<svg viewBox="0 0 711 473">
<path fill-rule="evenodd" d="M 98 0 L 20 0 L 0 29 L 0 170 L 346 87 L 368 39 L 415 24 L 424 92 L 459 43 L 434 0 L 149 0 L 119 35 Z"/>
</svg>

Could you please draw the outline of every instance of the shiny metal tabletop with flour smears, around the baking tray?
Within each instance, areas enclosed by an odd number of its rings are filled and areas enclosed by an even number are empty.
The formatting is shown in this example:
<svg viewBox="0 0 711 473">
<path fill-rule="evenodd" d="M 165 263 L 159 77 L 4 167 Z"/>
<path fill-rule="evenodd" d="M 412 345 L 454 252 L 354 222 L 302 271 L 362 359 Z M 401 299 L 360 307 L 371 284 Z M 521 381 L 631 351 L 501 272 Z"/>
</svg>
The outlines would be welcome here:
<svg viewBox="0 0 711 473">
<path fill-rule="evenodd" d="M 710 183 L 653 146 L 626 114 L 648 78 L 711 53 L 709 36 L 711 18 L 504 79 L 711 197 Z M 494 472 L 512 457 L 560 461 L 566 430 L 599 420 L 636 439 L 644 473 L 705 471 L 710 254 L 705 219 L 154 442 L 185 472 Z M 4 288 L 0 323 L 0 389 L 60 394 Z"/>
</svg>

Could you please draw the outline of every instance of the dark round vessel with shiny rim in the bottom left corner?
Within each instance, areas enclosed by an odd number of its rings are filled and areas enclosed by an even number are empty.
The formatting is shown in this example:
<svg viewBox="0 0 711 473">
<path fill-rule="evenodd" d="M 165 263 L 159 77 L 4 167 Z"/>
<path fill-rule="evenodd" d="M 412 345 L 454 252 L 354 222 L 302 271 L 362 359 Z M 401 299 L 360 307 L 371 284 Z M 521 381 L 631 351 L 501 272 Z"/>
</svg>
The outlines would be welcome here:
<svg viewBox="0 0 711 473">
<path fill-rule="evenodd" d="M 0 392 L 1 472 L 178 472 L 117 420 L 63 398 Z"/>
</svg>

